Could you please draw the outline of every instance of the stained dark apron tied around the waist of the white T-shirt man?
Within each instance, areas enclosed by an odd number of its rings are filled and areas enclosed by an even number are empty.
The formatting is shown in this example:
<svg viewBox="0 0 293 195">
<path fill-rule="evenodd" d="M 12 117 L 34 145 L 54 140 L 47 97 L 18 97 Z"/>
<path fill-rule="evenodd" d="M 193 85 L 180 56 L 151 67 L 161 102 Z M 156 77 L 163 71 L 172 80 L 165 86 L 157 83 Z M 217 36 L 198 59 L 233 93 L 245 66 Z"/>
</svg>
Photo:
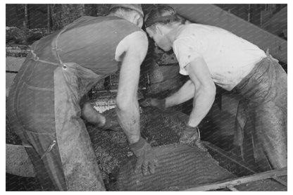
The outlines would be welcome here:
<svg viewBox="0 0 293 195">
<path fill-rule="evenodd" d="M 237 110 L 234 144 L 242 147 L 244 156 L 253 153 L 265 170 L 286 167 L 287 74 L 281 65 L 267 52 L 233 90 L 243 98 Z M 253 150 L 243 149 L 244 139 L 251 139 Z"/>
</svg>

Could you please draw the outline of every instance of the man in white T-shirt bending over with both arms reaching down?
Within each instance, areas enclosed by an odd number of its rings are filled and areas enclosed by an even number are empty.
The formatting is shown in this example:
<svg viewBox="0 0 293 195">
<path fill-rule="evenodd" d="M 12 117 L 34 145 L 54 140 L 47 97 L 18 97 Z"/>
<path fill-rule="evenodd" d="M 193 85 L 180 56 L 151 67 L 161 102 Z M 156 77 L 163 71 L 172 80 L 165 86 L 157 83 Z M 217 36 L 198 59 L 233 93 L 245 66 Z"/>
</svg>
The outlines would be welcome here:
<svg viewBox="0 0 293 195">
<path fill-rule="evenodd" d="M 256 161 L 268 159 L 273 168 L 287 166 L 287 74 L 278 62 L 258 46 L 219 27 L 186 24 L 169 6 L 158 6 L 145 19 L 146 32 L 156 46 L 173 49 L 180 73 L 189 75 L 178 92 L 166 99 L 146 99 L 142 106 L 168 108 L 189 99 L 192 113 L 180 137 L 181 143 L 203 148 L 197 126 L 210 110 L 216 86 L 238 92 L 247 100 L 254 124 Z M 249 123 L 251 124 L 251 123 Z M 244 127 L 244 130 L 248 127 Z"/>
</svg>

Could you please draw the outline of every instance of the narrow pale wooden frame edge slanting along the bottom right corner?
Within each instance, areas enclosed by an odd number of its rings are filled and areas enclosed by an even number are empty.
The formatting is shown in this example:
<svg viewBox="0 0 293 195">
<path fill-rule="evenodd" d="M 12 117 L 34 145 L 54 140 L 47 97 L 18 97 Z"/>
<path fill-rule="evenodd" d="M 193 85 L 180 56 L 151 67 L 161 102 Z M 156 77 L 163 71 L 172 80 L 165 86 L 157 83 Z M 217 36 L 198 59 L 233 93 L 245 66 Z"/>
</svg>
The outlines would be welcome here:
<svg viewBox="0 0 293 195">
<path fill-rule="evenodd" d="M 245 177 L 238 177 L 232 180 L 226 180 L 225 182 L 216 182 L 213 184 L 206 184 L 197 187 L 192 187 L 189 189 L 185 189 L 185 191 L 208 191 L 208 190 L 216 190 L 216 189 L 223 189 L 226 187 L 234 187 L 239 184 L 246 184 L 249 182 L 255 182 L 258 180 L 265 180 L 272 177 L 279 177 L 287 175 L 287 168 L 282 168 L 280 170 L 269 170 L 266 172 L 257 173 L 254 175 L 249 175 Z"/>
</svg>

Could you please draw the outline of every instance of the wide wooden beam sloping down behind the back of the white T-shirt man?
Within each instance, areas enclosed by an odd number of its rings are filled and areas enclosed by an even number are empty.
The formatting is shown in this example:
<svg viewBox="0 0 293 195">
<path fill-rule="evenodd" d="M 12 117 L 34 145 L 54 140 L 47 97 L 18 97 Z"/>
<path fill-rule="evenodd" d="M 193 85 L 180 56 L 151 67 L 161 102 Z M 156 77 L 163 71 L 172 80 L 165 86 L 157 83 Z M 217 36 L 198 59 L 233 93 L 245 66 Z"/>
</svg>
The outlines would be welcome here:
<svg viewBox="0 0 293 195">
<path fill-rule="evenodd" d="M 260 27 L 238 18 L 212 4 L 169 4 L 177 13 L 195 23 L 213 25 L 228 30 L 256 44 L 283 63 L 287 63 L 287 41 Z"/>
</svg>

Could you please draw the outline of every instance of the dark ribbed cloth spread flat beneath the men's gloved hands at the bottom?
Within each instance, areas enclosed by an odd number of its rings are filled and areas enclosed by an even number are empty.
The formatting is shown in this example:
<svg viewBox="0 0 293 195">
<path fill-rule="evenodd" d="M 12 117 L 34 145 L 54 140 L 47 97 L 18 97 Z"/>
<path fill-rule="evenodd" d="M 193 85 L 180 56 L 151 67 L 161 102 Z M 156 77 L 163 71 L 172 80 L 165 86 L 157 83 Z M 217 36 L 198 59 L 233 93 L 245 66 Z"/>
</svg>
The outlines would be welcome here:
<svg viewBox="0 0 293 195">
<path fill-rule="evenodd" d="M 159 165 L 153 175 L 135 173 L 136 158 L 132 156 L 118 174 L 120 191 L 168 191 L 183 190 L 199 184 L 218 182 L 235 177 L 218 165 L 208 152 L 196 146 L 169 144 L 154 147 Z"/>
</svg>

